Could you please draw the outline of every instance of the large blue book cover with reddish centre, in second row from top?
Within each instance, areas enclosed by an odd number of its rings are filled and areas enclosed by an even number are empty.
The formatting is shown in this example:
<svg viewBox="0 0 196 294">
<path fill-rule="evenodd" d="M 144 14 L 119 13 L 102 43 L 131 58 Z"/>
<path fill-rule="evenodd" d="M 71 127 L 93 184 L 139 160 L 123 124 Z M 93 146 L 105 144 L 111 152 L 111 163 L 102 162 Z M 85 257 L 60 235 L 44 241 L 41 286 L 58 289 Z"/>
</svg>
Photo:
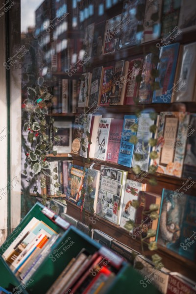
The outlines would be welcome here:
<svg viewBox="0 0 196 294">
<path fill-rule="evenodd" d="M 171 103 L 172 91 L 178 85 L 178 81 L 176 85 L 173 84 L 178 51 L 179 43 L 160 47 L 157 65 L 159 75 L 155 78 L 155 82 L 159 84 L 159 89 L 153 92 L 152 103 Z"/>
</svg>

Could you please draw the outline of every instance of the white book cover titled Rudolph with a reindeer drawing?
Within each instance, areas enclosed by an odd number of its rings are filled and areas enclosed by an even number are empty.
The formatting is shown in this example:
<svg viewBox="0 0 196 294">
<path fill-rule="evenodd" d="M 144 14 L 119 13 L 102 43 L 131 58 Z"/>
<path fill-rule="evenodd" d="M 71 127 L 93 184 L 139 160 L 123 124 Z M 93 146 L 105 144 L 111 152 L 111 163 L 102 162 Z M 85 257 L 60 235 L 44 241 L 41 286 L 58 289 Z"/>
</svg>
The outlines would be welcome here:
<svg viewBox="0 0 196 294">
<path fill-rule="evenodd" d="M 108 138 L 109 138 L 110 125 L 112 120 L 113 119 L 110 119 L 110 118 L 99 119 L 94 158 L 98 158 L 100 160 L 106 160 Z"/>
</svg>

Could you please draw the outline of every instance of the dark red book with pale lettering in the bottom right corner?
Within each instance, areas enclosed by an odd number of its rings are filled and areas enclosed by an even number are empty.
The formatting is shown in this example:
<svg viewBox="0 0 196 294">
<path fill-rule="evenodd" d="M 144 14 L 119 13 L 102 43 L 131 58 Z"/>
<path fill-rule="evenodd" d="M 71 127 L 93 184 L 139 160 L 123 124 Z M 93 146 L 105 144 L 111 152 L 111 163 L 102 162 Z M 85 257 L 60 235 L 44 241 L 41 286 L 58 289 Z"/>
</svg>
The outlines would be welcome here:
<svg viewBox="0 0 196 294">
<path fill-rule="evenodd" d="M 178 272 L 170 272 L 167 294 L 174 294 L 176 290 L 180 294 L 196 294 L 195 282 Z"/>
</svg>

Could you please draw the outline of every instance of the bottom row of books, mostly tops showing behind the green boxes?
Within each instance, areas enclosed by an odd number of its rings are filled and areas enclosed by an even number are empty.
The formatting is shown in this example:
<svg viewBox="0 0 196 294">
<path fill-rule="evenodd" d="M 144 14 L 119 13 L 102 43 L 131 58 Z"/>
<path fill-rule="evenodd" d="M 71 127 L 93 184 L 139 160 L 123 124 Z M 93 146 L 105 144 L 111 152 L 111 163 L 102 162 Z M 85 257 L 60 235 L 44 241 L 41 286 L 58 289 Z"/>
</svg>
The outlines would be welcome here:
<svg viewBox="0 0 196 294">
<path fill-rule="evenodd" d="M 153 263 L 139 252 L 100 230 L 90 230 L 86 224 L 74 219 L 68 214 L 63 214 L 62 217 L 99 244 L 112 249 L 117 255 L 121 256 L 126 262 L 131 263 L 134 267 L 137 268 L 136 264 L 138 262 L 142 263 L 143 268 L 138 271 L 144 276 L 145 286 L 152 282 L 162 294 L 174 294 L 177 293 L 177 290 L 181 290 L 182 294 L 196 293 L 194 281 L 164 267 L 161 270 L 158 267 L 154 267 Z"/>
</svg>

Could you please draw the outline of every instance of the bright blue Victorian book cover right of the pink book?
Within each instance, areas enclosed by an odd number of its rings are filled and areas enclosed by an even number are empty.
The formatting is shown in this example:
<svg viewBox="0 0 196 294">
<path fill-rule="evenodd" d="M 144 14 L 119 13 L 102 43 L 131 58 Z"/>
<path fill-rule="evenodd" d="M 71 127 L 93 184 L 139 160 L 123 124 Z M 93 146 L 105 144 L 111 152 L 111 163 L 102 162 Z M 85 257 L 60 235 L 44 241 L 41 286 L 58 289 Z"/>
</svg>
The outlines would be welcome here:
<svg viewBox="0 0 196 294">
<path fill-rule="evenodd" d="M 137 117 L 135 115 L 125 115 L 123 122 L 123 133 L 121 137 L 121 146 L 119 150 L 118 164 L 125 167 L 131 167 L 132 158 L 134 153 L 134 144 L 130 143 L 129 140 L 134 132 L 133 126 L 137 123 Z"/>
</svg>

